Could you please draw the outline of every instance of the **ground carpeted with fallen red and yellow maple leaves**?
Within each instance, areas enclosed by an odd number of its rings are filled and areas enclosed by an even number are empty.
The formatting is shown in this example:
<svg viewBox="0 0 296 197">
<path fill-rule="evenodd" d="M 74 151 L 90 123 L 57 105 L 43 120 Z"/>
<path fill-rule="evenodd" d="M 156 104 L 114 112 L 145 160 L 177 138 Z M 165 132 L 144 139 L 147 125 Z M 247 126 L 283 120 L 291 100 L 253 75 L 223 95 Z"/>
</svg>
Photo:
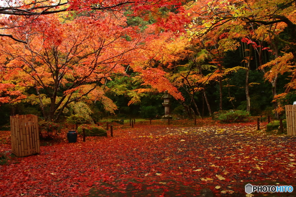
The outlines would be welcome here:
<svg viewBox="0 0 296 197">
<path fill-rule="evenodd" d="M 202 188 L 246 196 L 247 183 L 296 186 L 294 136 L 267 135 L 255 123 L 126 127 L 11 158 L 0 166 L 0 196 L 198 196 Z M 0 143 L 11 153 L 9 131 Z"/>
</svg>

